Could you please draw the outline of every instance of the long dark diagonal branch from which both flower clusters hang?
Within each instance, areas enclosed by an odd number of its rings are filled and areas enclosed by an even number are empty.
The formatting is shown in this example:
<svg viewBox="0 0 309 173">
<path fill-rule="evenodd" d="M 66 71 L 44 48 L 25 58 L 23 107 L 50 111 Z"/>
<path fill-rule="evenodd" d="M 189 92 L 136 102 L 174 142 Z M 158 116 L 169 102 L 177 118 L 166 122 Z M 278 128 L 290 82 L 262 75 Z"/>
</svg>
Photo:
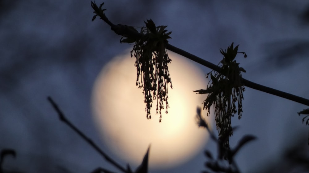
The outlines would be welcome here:
<svg viewBox="0 0 309 173">
<path fill-rule="evenodd" d="M 144 36 L 144 34 L 136 32 L 136 30 L 133 30 L 132 27 L 130 27 L 130 26 L 121 25 L 121 24 L 114 25 L 105 16 L 104 10 L 106 10 L 106 9 L 101 9 L 103 4 L 104 3 L 102 3 L 100 8 L 99 8 L 94 2 L 91 2 L 91 6 L 95 10 L 94 13 L 96 14 L 92 18 L 92 20 L 94 20 L 96 16 L 99 16 L 102 20 L 104 20 L 104 22 L 106 22 L 108 25 L 111 26 L 111 29 L 116 34 L 127 37 L 127 38 L 141 38 L 141 37 Z M 193 54 L 190 54 L 190 53 L 188 53 L 188 52 L 186 52 L 186 51 L 184 51 L 180 48 L 177 48 L 175 46 L 172 46 L 171 44 L 168 44 L 168 43 L 166 44 L 165 48 L 220 73 L 220 67 L 211 63 L 211 62 L 208 62 L 208 61 L 206 61 L 202 58 L 199 58 L 199 57 L 197 57 Z M 270 87 L 267 87 L 267 86 L 263 86 L 263 85 L 251 82 L 251 81 L 244 79 L 244 78 L 242 78 L 242 83 L 243 83 L 244 86 L 248 86 L 252 89 L 263 91 L 263 92 L 266 92 L 266 93 L 269 93 L 269 94 L 272 94 L 272 95 L 277 95 L 279 97 L 289 99 L 289 100 L 292 100 L 294 102 L 301 103 L 301 104 L 309 106 L 309 100 L 308 99 L 305 99 L 305 98 L 302 98 L 302 97 L 299 97 L 299 96 L 296 96 L 296 95 L 292 95 L 292 94 L 289 94 L 289 93 L 286 93 L 286 92 L 283 92 L 283 91 L 279 91 L 279 90 L 276 90 L 276 89 L 273 89 L 273 88 L 270 88 Z"/>
</svg>

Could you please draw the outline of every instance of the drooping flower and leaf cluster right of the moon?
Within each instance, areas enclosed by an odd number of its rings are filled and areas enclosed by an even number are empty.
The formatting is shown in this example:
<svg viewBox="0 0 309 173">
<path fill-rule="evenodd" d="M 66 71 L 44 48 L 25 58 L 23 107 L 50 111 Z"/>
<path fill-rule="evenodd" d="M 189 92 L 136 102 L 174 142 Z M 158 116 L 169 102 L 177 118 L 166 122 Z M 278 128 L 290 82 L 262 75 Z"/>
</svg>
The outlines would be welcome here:
<svg viewBox="0 0 309 173">
<path fill-rule="evenodd" d="M 198 94 L 208 94 L 203 102 L 203 108 L 208 111 L 207 115 L 209 116 L 210 107 L 214 106 L 215 123 L 220 139 L 226 134 L 229 136 L 233 134 L 231 117 L 238 113 L 238 119 L 240 119 L 243 112 L 242 100 L 245 88 L 242 84 L 241 72 L 245 72 L 245 70 L 239 67 L 239 63 L 234 59 L 237 53 L 243 53 L 245 57 L 247 55 L 244 52 L 238 52 L 239 45 L 234 47 L 233 44 L 225 51 L 220 50 L 223 55 L 220 62 L 222 64 L 220 72 L 211 71 L 206 74 L 207 79 L 210 75 L 207 88 L 194 91 Z M 229 148 L 229 140 L 225 141 L 225 147 Z"/>
</svg>

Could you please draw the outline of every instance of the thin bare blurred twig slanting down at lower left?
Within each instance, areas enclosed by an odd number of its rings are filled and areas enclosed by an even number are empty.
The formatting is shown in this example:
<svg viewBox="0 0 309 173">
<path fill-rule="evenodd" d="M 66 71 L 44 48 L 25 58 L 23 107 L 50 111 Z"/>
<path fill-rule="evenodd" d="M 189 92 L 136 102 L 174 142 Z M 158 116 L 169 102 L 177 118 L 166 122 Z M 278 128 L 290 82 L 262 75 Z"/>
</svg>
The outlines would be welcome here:
<svg viewBox="0 0 309 173">
<path fill-rule="evenodd" d="M 75 127 L 62 113 L 57 104 L 53 101 L 51 97 L 47 97 L 48 101 L 53 105 L 53 108 L 59 115 L 59 119 L 66 123 L 69 127 L 71 127 L 78 135 L 80 135 L 87 143 L 89 143 L 97 152 L 99 152 L 109 163 L 117 167 L 122 172 L 127 172 L 125 168 L 116 163 L 113 159 L 111 159 L 107 154 L 104 153 L 90 138 L 88 138 L 82 131 L 80 131 L 77 127 Z"/>
</svg>

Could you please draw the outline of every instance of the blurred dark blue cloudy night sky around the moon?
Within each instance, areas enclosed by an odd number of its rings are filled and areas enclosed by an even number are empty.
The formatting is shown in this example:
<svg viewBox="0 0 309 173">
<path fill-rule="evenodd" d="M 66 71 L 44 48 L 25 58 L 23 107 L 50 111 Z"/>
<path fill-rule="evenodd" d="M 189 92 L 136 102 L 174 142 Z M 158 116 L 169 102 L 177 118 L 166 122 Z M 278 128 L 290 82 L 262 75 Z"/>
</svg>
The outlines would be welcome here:
<svg viewBox="0 0 309 173">
<path fill-rule="evenodd" d="M 239 51 L 248 55 L 237 58 L 247 71 L 244 78 L 309 98 L 307 1 L 117 0 L 105 1 L 104 8 L 115 24 L 144 26 L 151 18 L 167 25 L 170 44 L 214 64 L 222 59 L 220 48 L 239 44 Z M 5 170 L 117 171 L 58 119 L 47 96 L 108 155 L 126 165 L 108 150 L 94 126 L 91 93 L 104 64 L 131 46 L 119 44 L 120 36 L 99 18 L 91 22 L 92 12 L 90 1 L 0 0 L 0 149 L 17 152 L 15 159 L 5 158 Z M 308 163 L 308 126 L 297 114 L 306 108 L 247 87 L 243 117 L 233 118 L 239 129 L 230 143 L 235 146 L 245 134 L 257 140 L 236 156 L 241 171 L 308 171 L 302 166 Z M 205 149 L 216 153 L 212 142 Z M 205 161 L 201 152 L 177 167 L 150 172 L 200 172 Z"/>
</svg>

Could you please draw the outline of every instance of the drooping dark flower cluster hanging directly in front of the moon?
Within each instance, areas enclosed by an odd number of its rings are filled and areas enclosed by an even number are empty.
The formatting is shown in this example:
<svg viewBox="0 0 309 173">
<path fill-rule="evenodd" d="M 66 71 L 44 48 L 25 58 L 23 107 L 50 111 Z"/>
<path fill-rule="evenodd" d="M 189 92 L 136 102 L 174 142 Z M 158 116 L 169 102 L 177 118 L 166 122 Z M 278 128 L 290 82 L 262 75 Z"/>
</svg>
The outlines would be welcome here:
<svg viewBox="0 0 309 173">
<path fill-rule="evenodd" d="M 167 113 L 168 105 L 168 85 L 172 88 L 171 77 L 168 71 L 168 57 L 165 46 L 167 39 L 171 38 L 165 28 L 167 26 L 155 26 L 150 19 L 147 20 L 146 27 L 142 27 L 140 33 L 142 37 L 137 40 L 122 39 L 121 42 L 135 42 L 131 57 L 135 57 L 135 67 L 137 69 L 136 85 L 143 90 L 144 102 L 146 103 L 146 117 L 151 119 L 150 108 L 153 99 L 157 99 L 156 114 L 160 114 L 159 122 L 162 120 L 161 110 L 165 108 Z M 165 106 L 164 106 L 165 103 Z"/>
</svg>

